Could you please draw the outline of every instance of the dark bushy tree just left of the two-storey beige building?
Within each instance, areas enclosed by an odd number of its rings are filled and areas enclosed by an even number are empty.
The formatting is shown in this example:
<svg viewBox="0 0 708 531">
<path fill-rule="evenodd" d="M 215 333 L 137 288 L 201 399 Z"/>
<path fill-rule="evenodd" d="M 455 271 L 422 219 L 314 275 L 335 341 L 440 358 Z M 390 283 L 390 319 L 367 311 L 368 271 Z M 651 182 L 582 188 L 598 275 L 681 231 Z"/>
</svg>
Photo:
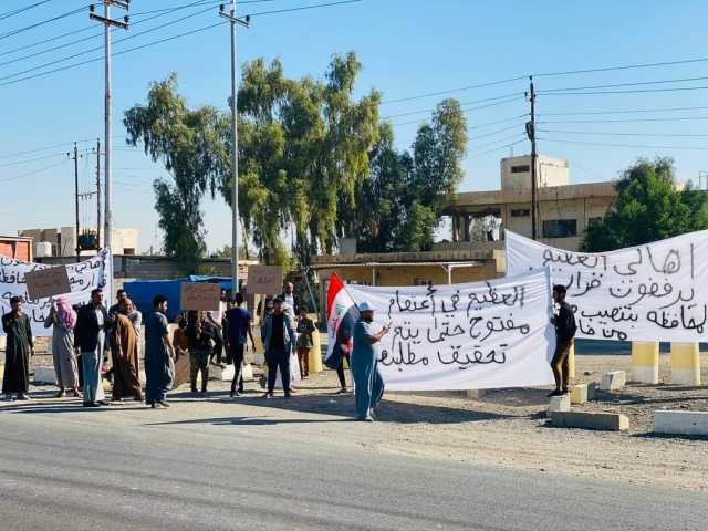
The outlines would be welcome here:
<svg viewBox="0 0 708 531">
<path fill-rule="evenodd" d="M 383 124 L 371 153 L 371 179 L 357 199 L 360 247 L 368 252 L 419 251 L 433 244 L 440 211 L 462 180 L 467 123 L 459 103 L 445 100 L 423 125 L 413 155 L 398 153 Z"/>
</svg>

